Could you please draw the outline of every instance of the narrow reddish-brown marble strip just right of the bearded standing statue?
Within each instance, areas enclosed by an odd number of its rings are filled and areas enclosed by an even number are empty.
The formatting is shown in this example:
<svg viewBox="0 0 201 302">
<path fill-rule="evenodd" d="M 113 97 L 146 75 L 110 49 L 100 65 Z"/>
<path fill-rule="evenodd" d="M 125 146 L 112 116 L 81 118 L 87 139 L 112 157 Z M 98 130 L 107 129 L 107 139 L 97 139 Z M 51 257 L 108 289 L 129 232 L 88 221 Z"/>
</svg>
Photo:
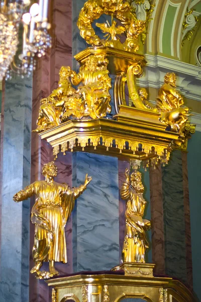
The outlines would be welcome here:
<svg viewBox="0 0 201 302">
<path fill-rule="evenodd" d="M 165 274 L 164 222 L 162 199 L 161 166 L 149 169 L 150 203 L 152 227 L 152 262 L 156 264 L 154 272 Z"/>
</svg>

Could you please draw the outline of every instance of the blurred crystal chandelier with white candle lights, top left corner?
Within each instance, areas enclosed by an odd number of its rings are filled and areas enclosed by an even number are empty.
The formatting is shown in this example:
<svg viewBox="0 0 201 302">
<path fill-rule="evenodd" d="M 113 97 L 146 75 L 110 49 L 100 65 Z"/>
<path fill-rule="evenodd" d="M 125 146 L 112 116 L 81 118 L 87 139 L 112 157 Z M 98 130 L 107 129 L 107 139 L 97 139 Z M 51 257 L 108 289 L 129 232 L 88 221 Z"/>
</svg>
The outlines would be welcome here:
<svg viewBox="0 0 201 302">
<path fill-rule="evenodd" d="M 35 69 L 35 57 L 45 54 L 51 47 L 48 34 L 48 0 L 34 3 L 29 13 L 30 0 L 15 2 L 4 1 L 0 7 L 0 81 L 12 78 L 12 71 L 30 75 Z M 23 25 L 23 37 L 19 37 L 19 28 Z M 19 39 L 23 41 L 22 53 L 15 62 Z"/>
</svg>

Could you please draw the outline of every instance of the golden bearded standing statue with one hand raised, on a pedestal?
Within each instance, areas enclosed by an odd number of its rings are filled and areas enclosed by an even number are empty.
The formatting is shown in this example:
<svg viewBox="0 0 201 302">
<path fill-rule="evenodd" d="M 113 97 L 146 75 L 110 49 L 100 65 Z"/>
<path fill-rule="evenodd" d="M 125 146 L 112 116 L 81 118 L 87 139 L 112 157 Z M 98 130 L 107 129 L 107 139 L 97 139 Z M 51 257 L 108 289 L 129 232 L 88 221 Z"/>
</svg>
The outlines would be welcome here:
<svg viewBox="0 0 201 302">
<path fill-rule="evenodd" d="M 142 175 L 135 170 L 130 177 L 129 169 L 126 169 L 125 176 L 126 180 L 121 188 L 121 198 L 126 200 L 126 236 L 122 261 L 145 263 L 145 252 L 149 247 L 145 231 L 151 225 L 149 220 L 142 218 L 146 205 Z"/>
</svg>

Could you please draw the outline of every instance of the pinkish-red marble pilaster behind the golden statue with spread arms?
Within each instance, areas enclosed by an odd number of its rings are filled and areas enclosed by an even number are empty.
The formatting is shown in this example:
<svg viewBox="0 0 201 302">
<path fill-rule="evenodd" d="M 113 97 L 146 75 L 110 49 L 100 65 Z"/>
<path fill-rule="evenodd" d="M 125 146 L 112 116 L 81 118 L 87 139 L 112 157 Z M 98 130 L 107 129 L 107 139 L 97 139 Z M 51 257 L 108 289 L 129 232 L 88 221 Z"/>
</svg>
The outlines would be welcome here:
<svg viewBox="0 0 201 302">
<path fill-rule="evenodd" d="M 49 18 L 52 24 L 51 35 L 53 38 L 52 49 L 48 54 L 38 61 L 37 70 L 33 77 L 33 110 L 32 110 L 32 129 L 36 128 L 36 121 L 40 107 L 40 100 L 47 97 L 53 89 L 58 87 L 59 69 L 62 65 L 72 67 L 72 0 L 54 0 L 50 3 Z M 52 147 L 44 140 L 41 140 L 37 133 L 32 132 L 32 166 L 31 182 L 43 179 L 41 174 L 42 166 L 48 161 L 53 160 Z M 58 181 L 69 182 L 67 175 L 70 171 L 69 162 L 66 158 L 58 157 Z M 66 167 L 68 172 L 64 172 L 62 167 Z M 35 199 L 32 199 L 33 206 Z M 70 223 L 70 222 L 69 222 Z M 72 224 L 72 222 L 71 222 Z M 69 241 L 72 226 L 66 226 L 66 238 Z M 34 225 L 30 229 L 30 266 L 33 265 L 32 247 L 34 241 Z M 70 254 L 70 252 L 69 252 Z M 72 272 L 72 261 L 68 257 L 69 264 L 67 272 Z M 70 264 L 71 263 L 71 264 Z M 66 267 L 65 267 L 66 268 Z M 64 268 L 59 266 L 59 271 Z M 64 269 L 65 270 L 65 269 Z M 70 271 L 69 271 L 70 270 Z M 30 302 L 36 298 L 41 301 L 49 300 L 49 288 L 42 280 L 39 281 L 34 275 L 30 275 Z"/>
</svg>

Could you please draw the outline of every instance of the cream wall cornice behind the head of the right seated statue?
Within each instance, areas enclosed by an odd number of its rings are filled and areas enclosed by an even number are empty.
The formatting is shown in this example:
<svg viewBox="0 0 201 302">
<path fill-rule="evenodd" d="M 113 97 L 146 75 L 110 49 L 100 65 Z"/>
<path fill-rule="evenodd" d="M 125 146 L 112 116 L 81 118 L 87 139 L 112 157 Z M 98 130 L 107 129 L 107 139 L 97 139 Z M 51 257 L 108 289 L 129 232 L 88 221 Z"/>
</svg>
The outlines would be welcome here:
<svg viewBox="0 0 201 302">
<path fill-rule="evenodd" d="M 167 72 L 177 75 L 177 89 L 186 98 L 201 101 L 201 68 L 161 55 L 145 54 L 147 65 L 144 75 L 137 79 L 137 85 L 159 89 Z"/>
</svg>

